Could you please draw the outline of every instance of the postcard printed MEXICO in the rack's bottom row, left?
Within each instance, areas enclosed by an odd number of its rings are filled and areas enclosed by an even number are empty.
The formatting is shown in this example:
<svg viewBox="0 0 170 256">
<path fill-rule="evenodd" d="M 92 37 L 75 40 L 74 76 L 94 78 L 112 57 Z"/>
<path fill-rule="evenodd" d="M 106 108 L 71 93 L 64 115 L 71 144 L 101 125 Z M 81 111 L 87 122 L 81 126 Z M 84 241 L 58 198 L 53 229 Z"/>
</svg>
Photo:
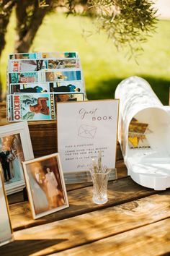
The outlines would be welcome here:
<svg viewBox="0 0 170 256">
<path fill-rule="evenodd" d="M 55 104 L 51 93 L 7 95 L 9 121 L 55 119 Z"/>
</svg>

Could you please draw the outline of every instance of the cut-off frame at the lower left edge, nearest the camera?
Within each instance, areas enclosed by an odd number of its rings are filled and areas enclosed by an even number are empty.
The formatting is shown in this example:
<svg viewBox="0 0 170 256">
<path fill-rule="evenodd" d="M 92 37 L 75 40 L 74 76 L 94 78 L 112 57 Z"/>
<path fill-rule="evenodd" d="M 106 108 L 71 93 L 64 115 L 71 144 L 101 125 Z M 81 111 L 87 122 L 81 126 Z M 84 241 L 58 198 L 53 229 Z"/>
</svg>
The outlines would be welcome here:
<svg viewBox="0 0 170 256">
<path fill-rule="evenodd" d="M 0 246 L 12 242 L 14 240 L 12 234 L 12 225 L 9 218 L 9 208 L 6 199 L 4 181 L 2 176 L 2 167 L 0 163 L 0 205 L 1 205 L 1 218 L 0 218 Z"/>
</svg>

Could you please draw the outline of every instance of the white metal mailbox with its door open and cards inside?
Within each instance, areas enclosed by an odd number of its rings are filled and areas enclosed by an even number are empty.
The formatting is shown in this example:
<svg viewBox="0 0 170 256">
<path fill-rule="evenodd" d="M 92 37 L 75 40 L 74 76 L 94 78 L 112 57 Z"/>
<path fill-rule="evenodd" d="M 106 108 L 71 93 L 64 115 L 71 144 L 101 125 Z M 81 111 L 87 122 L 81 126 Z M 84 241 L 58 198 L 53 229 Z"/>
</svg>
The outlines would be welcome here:
<svg viewBox="0 0 170 256">
<path fill-rule="evenodd" d="M 115 98 L 120 98 L 118 140 L 128 174 L 144 187 L 170 187 L 170 107 L 140 77 L 120 82 Z"/>
</svg>

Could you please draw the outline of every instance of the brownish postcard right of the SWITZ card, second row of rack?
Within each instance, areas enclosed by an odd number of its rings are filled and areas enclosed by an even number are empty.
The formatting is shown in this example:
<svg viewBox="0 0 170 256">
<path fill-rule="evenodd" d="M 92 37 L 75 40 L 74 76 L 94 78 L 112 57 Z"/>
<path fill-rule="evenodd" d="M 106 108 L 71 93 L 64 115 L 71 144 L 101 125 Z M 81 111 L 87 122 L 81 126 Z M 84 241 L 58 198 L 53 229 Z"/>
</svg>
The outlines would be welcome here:
<svg viewBox="0 0 170 256">
<path fill-rule="evenodd" d="M 79 59 L 48 59 L 48 69 L 80 68 Z"/>
</svg>

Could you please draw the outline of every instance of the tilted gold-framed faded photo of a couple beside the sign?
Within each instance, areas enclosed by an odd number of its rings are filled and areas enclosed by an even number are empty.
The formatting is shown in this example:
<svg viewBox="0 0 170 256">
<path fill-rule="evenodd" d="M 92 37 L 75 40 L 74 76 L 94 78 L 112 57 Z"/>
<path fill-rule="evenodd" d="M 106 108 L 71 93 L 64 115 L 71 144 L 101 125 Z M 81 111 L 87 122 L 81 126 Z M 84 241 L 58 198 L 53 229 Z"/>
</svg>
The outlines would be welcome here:
<svg viewBox="0 0 170 256">
<path fill-rule="evenodd" d="M 34 219 L 69 206 L 58 153 L 22 164 Z"/>
</svg>

